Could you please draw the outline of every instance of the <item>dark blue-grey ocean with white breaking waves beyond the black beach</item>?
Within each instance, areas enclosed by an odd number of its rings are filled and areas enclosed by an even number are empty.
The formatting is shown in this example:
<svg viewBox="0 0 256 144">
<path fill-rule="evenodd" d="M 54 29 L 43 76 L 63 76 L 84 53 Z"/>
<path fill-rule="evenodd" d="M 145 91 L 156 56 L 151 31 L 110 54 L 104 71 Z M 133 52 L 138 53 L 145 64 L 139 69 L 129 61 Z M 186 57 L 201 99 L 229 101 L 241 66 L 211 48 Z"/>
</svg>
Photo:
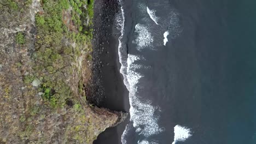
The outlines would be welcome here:
<svg viewBox="0 0 256 144">
<path fill-rule="evenodd" d="M 256 143 L 256 1 L 121 5 L 131 104 L 123 143 Z"/>
</svg>

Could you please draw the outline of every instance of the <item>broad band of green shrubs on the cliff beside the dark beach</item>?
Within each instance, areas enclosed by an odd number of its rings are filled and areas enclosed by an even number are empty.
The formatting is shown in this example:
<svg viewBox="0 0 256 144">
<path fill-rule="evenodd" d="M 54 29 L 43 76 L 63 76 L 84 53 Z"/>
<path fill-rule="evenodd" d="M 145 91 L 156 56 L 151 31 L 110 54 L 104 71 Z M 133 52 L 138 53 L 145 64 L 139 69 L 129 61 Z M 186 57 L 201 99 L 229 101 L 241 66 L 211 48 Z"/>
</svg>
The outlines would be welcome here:
<svg viewBox="0 0 256 144">
<path fill-rule="evenodd" d="M 86 4 L 88 9 L 85 9 Z M 36 15 L 36 52 L 33 58 L 37 63 L 33 69 L 36 77 L 42 77 L 40 91 L 44 93 L 42 98 L 45 102 L 53 108 L 63 107 L 72 95 L 64 75 L 77 69 L 71 63 L 77 61 L 82 53 L 91 51 L 88 47 L 91 47 L 92 22 L 86 25 L 86 21 L 87 15 L 90 14 L 91 18 L 93 16 L 93 1 L 43 0 L 42 6 L 44 13 Z M 69 7 L 72 7 L 71 11 Z M 64 17 L 70 21 L 65 21 Z M 91 56 L 88 57 L 91 59 Z M 28 78 L 25 81 L 32 82 Z M 82 93 L 82 83 L 79 83 L 78 89 Z"/>
</svg>

